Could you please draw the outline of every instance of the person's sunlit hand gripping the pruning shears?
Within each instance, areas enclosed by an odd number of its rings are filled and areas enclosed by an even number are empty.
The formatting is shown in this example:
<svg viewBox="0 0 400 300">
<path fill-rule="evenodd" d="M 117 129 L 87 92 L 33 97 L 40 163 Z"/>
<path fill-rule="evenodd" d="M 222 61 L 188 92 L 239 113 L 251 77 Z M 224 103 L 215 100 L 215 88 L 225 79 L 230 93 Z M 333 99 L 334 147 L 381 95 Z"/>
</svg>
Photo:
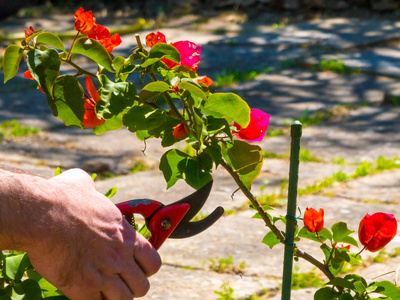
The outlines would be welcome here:
<svg viewBox="0 0 400 300">
<path fill-rule="evenodd" d="M 57 201 L 42 247 L 28 252 L 36 270 L 71 299 L 133 299 L 149 289 L 161 260 L 150 243 L 72 169 L 48 180 Z"/>
</svg>

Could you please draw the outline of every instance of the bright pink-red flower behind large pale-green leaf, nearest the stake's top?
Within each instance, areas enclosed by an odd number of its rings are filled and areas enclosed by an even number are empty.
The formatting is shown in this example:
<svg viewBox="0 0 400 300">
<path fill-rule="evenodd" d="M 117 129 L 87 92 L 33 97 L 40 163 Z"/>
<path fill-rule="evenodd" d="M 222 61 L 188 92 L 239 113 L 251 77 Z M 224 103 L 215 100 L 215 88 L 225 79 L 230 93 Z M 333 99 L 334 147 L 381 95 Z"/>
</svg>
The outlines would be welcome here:
<svg viewBox="0 0 400 300">
<path fill-rule="evenodd" d="M 269 124 L 270 115 L 259 109 L 251 109 L 250 123 L 246 128 L 242 128 L 236 122 L 233 124 L 237 131 L 236 136 L 248 142 L 262 141 Z"/>
</svg>

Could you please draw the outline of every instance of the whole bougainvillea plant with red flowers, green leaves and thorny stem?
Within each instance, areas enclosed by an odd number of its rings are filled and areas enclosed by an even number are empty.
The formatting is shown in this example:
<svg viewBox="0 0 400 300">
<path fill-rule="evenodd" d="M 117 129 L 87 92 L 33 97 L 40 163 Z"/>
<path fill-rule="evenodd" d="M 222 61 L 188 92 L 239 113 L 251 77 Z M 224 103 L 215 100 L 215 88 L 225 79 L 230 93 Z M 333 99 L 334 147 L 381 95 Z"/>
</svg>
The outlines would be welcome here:
<svg viewBox="0 0 400 300">
<path fill-rule="evenodd" d="M 126 127 L 142 141 L 160 139 L 163 147 L 169 147 L 159 164 L 167 188 L 184 180 L 198 189 L 212 180 L 213 169 L 226 169 L 257 210 L 255 217 L 270 229 L 263 243 L 271 248 L 284 243 L 285 233 L 275 224 L 286 222 L 285 217 L 272 217 L 267 212 L 272 208 L 262 207 L 251 193 L 264 161 L 260 146 L 251 142 L 264 138 L 270 115 L 251 109 L 234 93 L 212 92 L 212 80 L 196 73 L 201 46 L 193 42 L 168 43 L 164 34 L 156 32 L 146 36 L 146 47 L 136 35 L 137 46 L 125 58 L 112 54 L 121 44 L 120 36 L 111 36 L 106 27 L 96 23 L 92 12 L 80 8 L 74 28 L 77 34 L 68 50 L 54 33 L 32 27 L 25 30 L 21 44 L 5 51 L 4 82 L 17 74 L 24 59 L 28 66 L 24 76 L 37 82 L 53 115 L 65 125 L 92 128 L 97 135 Z M 97 67 L 95 73 L 79 66 L 76 58 L 80 55 Z M 72 66 L 75 73 L 63 71 L 64 64 Z M 140 92 L 130 80 L 135 75 L 144 83 Z M 188 154 L 174 147 L 180 141 L 194 151 Z M 379 299 L 400 299 L 400 289 L 390 282 L 367 284 L 358 275 L 340 276 L 345 264 L 361 261 L 359 253 L 349 250 L 358 243 L 346 223 L 336 223 L 329 230 L 324 227 L 323 210 L 308 208 L 304 225 L 300 230 L 297 226 L 295 240 L 317 242 L 325 260 L 321 262 L 297 246 L 294 255 L 314 264 L 329 279 L 314 299 L 371 299 L 373 293 L 379 294 Z M 360 223 L 359 240 L 364 249 L 377 251 L 393 238 L 396 229 L 392 215 L 367 214 Z M 0 252 L 0 261 L 0 299 L 11 299 L 14 294 L 29 299 L 65 298 L 34 272 L 27 254 Z"/>
</svg>

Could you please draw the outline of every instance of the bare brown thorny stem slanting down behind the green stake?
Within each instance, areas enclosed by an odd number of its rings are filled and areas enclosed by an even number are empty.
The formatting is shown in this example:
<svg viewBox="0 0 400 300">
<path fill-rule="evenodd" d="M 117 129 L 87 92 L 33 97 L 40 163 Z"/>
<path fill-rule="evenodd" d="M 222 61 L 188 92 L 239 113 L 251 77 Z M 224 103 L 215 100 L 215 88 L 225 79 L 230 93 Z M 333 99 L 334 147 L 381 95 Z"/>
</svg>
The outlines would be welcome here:
<svg viewBox="0 0 400 300">
<path fill-rule="evenodd" d="M 251 204 L 255 207 L 257 212 L 260 214 L 260 216 L 263 219 L 265 225 L 275 234 L 275 236 L 281 241 L 281 243 L 284 243 L 285 242 L 285 237 L 283 236 L 282 232 L 279 230 L 279 228 L 277 228 L 271 222 L 271 220 L 269 219 L 268 215 L 265 213 L 265 211 L 263 210 L 262 206 L 257 201 L 256 197 L 243 184 L 243 182 L 240 179 L 238 173 L 224 159 L 221 159 L 221 165 L 232 176 L 232 178 L 235 180 L 236 184 L 239 186 L 239 189 L 243 192 L 243 194 L 247 197 L 247 199 L 250 200 Z M 294 255 L 296 255 L 297 257 L 303 258 L 304 260 L 306 260 L 309 263 L 311 263 L 314 266 L 316 266 L 318 269 L 320 269 L 325 274 L 326 277 L 328 277 L 329 280 L 335 278 L 335 276 L 331 273 L 331 271 L 329 271 L 328 266 L 326 266 L 325 264 L 323 264 L 319 260 L 317 260 L 314 257 L 312 257 L 307 252 L 304 252 L 303 250 L 299 249 L 296 245 L 294 245 L 294 247 L 295 247 Z"/>
</svg>

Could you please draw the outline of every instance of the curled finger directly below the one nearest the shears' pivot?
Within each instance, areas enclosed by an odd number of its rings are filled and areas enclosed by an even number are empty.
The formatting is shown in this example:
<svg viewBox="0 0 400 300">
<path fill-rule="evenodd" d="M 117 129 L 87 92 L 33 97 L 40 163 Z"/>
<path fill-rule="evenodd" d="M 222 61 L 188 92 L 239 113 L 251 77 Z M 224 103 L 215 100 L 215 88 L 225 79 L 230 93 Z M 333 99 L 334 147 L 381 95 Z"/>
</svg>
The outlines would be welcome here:
<svg viewBox="0 0 400 300">
<path fill-rule="evenodd" d="M 120 276 L 135 297 L 143 297 L 150 289 L 150 282 L 146 274 L 143 273 L 142 269 L 134 260 L 126 264 Z"/>
</svg>

